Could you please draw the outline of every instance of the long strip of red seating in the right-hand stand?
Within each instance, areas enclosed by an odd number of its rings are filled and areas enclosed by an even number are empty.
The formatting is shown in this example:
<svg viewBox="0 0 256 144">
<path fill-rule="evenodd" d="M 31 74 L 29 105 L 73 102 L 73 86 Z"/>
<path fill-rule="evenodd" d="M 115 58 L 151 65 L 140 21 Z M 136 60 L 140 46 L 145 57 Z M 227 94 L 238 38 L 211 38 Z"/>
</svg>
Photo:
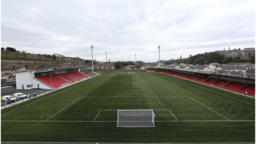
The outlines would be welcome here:
<svg viewBox="0 0 256 144">
<path fill-rule="evenodd" d="M 167 70 L 155 70 L 155 73 L 165 73 L 165 74 L 189 79 L 191 81 L 204 83 L 207 85 L 218 86 L 218 87 L 221 87 L 222 89 L 227 89 L 230 91 L 235 91 L 243 94 L 245 94 L 245 92 L 247 91 L 247 93 L 252 96 L 254 96 L 255 94 L 255 85 L 243 84 L 239 82 L 228 82 L 223 79 L 216 79 L 211 77 L 207 78 L 207 75 L 205 74 L 188 75 L 188 74 L 182 74 L 182 73 L 167 71 Z"/>
</svg>

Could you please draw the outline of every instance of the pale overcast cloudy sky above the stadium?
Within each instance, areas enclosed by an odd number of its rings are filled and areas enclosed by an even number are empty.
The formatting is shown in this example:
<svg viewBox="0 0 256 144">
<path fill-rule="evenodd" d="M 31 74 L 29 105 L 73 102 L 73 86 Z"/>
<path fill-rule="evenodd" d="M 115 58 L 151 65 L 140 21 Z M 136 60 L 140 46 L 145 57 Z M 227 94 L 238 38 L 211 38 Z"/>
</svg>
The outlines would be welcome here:
<svg viewBox="0 0 256 144">
<path fill-rule="evenodd" d="M 158 60 L 255 44 L 252 1 L 2 0 L 1 46 L 96 60 Z"/>
</svg>

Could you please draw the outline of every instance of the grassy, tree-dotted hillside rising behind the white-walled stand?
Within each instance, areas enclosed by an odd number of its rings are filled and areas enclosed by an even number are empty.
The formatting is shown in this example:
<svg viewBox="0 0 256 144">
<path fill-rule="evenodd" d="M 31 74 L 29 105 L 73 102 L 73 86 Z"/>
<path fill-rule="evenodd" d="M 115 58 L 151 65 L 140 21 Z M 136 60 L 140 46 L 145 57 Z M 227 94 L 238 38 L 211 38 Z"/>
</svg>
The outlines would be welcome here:
<svg viewBox="0 0 256 144">
<path fill-rule="evenodd" d="M 13 47 L 1 48 L 1 67 L 18 69 L 20 67 L 50 68 L 66 66 L 89 66 L 91 60 L 79 57 L 65 57 L 61 54 L 33 54 L 17 51 Z M 97 63 L 97 62 L 94 62 Z"/>
</svg>

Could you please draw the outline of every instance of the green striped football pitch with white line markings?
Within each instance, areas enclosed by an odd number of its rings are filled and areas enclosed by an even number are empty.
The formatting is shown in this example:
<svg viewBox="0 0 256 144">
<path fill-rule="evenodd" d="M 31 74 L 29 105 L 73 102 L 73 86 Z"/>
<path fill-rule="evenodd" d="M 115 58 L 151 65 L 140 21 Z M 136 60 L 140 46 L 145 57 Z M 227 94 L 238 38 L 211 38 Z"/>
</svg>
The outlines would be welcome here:
<svg viewBox="0 0 256 144">
<path fill-rule="evenodd" d="M 103 74 L 2 110 L 2 141 L 254 142 L 254 99 L 153 73 Z M 117 127 L 153 109 L 155 127 Z"/>
</svg>

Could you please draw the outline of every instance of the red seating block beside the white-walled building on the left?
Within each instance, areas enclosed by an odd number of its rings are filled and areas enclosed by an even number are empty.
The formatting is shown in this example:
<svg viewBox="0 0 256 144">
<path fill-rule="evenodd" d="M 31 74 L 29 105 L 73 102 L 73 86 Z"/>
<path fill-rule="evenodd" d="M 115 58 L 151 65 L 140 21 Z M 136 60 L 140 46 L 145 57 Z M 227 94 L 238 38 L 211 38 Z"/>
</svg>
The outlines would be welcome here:
<svg viewBox="0 0 256 144">
<path fill-rule="evenodd" d="M 39 79 L 39 81 L 51 85 L 54 88 L 58 88 L 61 87 L 63 84 L 81 81 L 83 78 L 89 78 L 89 76 L 76 71 L 74 73 L 62 73 L 51 76 L 38 76 L 36 78 Z"/>
</svg>

